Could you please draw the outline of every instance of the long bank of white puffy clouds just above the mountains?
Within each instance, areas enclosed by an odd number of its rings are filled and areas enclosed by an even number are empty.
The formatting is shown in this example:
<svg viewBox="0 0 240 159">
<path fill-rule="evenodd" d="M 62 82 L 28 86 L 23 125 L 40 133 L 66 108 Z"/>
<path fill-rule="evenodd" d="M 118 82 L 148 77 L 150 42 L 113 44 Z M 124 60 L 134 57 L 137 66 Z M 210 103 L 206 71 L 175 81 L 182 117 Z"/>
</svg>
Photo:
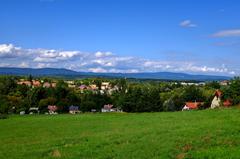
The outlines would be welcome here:
<svg viewBox="0 0 240 159">
<path fill-rule="evenodd" d="M 191 61 L 150 60 L 118 56 L 112 52 L 81 52 L 54 49 L 25 49 L 13 44 L 0 44 L 0 67 L 66 68 L 80 72 L 186 72 L 196 74 L 235 75 L 224 64 L 219 67 Z"/>
</svg>

